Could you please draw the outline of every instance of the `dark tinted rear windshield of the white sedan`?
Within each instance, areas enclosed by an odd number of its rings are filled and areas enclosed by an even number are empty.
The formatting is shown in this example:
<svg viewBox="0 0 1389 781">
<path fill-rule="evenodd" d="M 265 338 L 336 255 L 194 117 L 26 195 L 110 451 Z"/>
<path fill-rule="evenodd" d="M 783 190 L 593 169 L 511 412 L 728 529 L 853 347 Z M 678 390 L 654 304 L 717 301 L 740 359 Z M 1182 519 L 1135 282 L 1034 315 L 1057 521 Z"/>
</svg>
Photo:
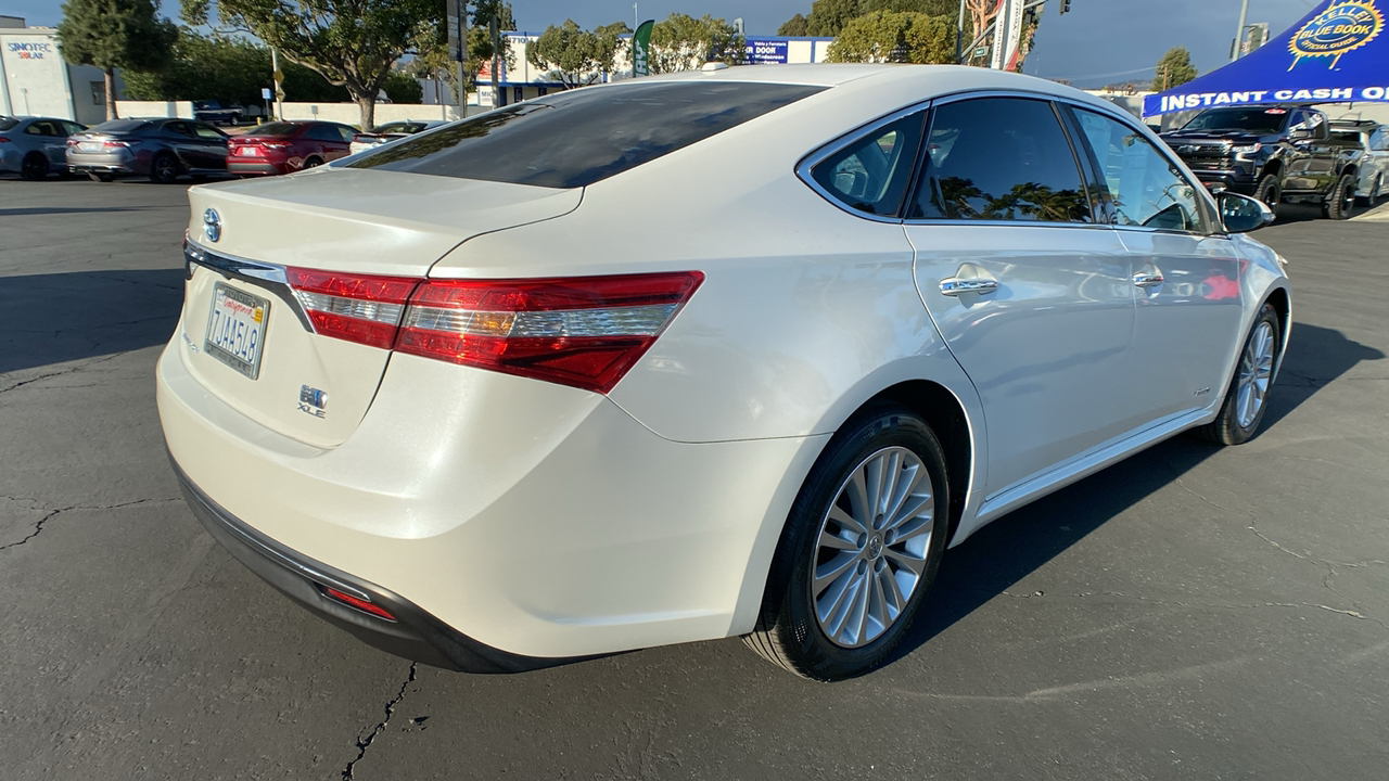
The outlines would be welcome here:
<svg viewBox="0 0 1389 781">
<path fill-rule="evenodd" d="M 575 89 L 383 146 L 347 167 L 582 188 L 822 89 L 746 82 Z"/>
</svg>

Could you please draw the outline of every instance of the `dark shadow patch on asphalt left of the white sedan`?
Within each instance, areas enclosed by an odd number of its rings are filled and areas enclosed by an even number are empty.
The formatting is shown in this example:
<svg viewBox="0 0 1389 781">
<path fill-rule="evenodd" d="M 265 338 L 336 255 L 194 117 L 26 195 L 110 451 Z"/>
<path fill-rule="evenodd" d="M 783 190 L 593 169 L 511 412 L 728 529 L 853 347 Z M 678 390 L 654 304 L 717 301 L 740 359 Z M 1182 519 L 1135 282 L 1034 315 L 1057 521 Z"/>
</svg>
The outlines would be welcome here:
<svg viewBox="0 0 1389 781">
<path fill-rule="evenodd" d="M 168 342 L 183 270 L 0 278 L 0 374 Z"/>
</svg>

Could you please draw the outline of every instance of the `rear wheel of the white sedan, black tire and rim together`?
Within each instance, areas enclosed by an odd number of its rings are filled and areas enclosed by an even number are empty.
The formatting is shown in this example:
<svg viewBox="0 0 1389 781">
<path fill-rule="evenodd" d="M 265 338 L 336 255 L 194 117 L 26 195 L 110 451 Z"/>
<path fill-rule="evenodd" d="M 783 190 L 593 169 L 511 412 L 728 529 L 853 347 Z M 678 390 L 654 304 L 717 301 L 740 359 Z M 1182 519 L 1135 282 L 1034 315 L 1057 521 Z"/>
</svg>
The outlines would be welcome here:
<svg viewBox="0 0 1389 781">
<path fill-rule="evenodd" d="M 792 506 L 747 645 L 818 681 L 882 664 L 940 567 L 946 485 L 940 442 L 915 413 L 881 403 L 845 424 Z"/>
</svg>

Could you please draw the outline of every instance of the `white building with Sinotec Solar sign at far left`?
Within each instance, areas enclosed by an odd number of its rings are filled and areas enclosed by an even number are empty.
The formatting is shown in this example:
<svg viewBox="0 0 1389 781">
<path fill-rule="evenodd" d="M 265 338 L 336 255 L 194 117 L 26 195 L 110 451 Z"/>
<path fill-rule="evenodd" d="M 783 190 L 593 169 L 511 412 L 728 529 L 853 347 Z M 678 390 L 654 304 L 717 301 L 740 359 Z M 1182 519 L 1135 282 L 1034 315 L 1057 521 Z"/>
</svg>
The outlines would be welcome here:
<svg viewBox="0 0 1389 781">
<path fill-rule="evenodd" d="M 0 17 L 0 114 L 83 125 L 106 121 L 101 69 L 63 60 L 53 28 L 26 28 L 18 17 Z"/>
</svg>

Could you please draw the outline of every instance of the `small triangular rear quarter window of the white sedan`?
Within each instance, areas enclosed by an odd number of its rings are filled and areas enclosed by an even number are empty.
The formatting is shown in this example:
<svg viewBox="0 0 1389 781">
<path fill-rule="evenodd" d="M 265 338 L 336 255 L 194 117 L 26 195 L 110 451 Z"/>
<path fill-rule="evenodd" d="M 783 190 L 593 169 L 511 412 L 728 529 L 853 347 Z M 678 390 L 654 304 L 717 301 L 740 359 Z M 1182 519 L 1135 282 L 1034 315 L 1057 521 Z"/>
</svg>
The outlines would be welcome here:
<svg viewBox="0 0 1389 781">
<path fill-rule="evenodd" d="M 921 146 L 925 113 L 878 128 L 815 164 L 811 176 L 850 208 L 897 214 Z"/>
</svg>

